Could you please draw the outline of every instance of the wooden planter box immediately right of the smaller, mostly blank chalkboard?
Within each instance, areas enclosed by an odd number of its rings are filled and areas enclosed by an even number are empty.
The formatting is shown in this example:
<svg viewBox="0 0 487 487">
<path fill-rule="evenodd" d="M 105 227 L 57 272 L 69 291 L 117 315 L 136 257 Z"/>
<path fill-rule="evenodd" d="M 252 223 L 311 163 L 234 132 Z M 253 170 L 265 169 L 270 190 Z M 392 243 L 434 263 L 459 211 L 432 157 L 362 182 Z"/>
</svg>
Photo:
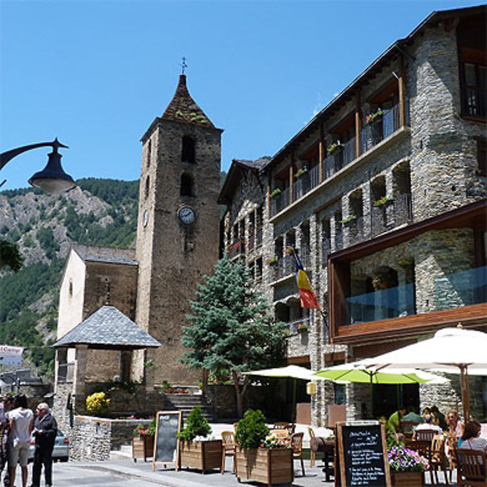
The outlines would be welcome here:
<svg viewBox="0 0 487 487">
<path fill-rule="evenodd" d="M 179 440 L 180 467 L 197 468 L 203 473 L 222 467 L 222 440 Z"/>
</svg>

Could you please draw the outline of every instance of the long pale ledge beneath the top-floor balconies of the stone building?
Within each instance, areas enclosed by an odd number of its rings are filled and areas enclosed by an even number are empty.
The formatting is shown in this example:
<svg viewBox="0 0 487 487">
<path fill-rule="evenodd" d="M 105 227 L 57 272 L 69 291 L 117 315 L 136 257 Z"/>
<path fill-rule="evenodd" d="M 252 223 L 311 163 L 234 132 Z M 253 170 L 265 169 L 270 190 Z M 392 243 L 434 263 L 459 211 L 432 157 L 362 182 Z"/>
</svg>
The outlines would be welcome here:
<svg viewBox="0 0 487 487">
<path fill-rule="evenodd" d="M 316 197 L 323 190 L 330 189 L 330 186 L 335 185 L 337 181 L 344 176 L 347 176 L 349 173 L 355 171 L 360 166 L 364 165 L 367 162 L 370 162 L 371 159 L 377 157 L 382 151 L 389 149 L 391 146 L 397 144 L 399 140 L 403 137 L 406 137 L 411 134 L 411 127 L 401 127 L 394 131 L 389 137 L 381 140 L 378 144 L 374 147 L 370 148 L 363 154 L 360 154 L 356 159 L 354 159 L 350 164 L 344 166 L 335 174 L 332 174 L 329 178 L 325 179 L 318 186 L 310 189 L 306 194 L 301 196 L 299 200 L 294 201 L 290 205 L 283 208 L 279 213 L 274 215 L 273 217 L 269 218 L 269 223 L 275 223 L 280 220 L 282 217 L 286 216 L 288 212 L 292 211 L 293 209 L 301 206 L 305 202 L 309 202 L 312 198 Z M 408 156 L 405 156 L 403 159 L 407 159 Z"/>
</svg>

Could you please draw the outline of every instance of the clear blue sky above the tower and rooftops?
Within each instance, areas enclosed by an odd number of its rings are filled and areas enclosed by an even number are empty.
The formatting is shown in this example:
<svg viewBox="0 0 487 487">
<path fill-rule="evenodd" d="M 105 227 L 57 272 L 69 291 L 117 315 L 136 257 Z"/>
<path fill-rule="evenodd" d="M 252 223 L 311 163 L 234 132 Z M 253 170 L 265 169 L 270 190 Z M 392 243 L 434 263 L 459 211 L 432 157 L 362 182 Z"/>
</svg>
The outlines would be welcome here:
<svg viewBox="0 0 487 487">
<path fill-rule="evenodd" d="M 480 3 L 0 0 L 0 151 L 57 136 L 75 179 L 137 179 L 186 56 L 227 169 L 277 152 L 433 10 Z M 48 151 L 13 159 L 1 189 L 26 187 Z"/>
</svg>

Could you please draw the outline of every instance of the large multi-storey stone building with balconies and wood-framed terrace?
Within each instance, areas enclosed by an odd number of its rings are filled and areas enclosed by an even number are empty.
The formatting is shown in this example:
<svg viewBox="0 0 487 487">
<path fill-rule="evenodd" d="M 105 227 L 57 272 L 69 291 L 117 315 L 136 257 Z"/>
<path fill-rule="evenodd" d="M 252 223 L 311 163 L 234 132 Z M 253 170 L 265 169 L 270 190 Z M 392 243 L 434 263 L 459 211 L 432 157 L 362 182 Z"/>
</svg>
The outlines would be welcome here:
<svg viewBox="0 0 487 487">
<path fill-rule="evenodd" d="M 485 32 L 485 6 L 432 13 L 256 162 L 258 172 L 234 161 L 220 195 L 225 247 L 289 324 L 288 362 L 318 370 L 458 322 L 486 330 Z M 234 166 L 249 169 L 237 177 Z M 288 247 L 298 249 L 323 317 L 300 307 Z M 308 329 L 299 333 L 301 323 Z M 486 379 L 472 388 L 481 418 Z M 375 413 L 390 413 L 396 392 L 376 388 Z M 455 380 L 441 393 L 398 392 L 415 406 L 459 404 Z M 326 424 L 344 401 L 348 417 L 368 416 L 369 397 L 360 386 L 320 384 L 313 421 Z"/>
</svg>

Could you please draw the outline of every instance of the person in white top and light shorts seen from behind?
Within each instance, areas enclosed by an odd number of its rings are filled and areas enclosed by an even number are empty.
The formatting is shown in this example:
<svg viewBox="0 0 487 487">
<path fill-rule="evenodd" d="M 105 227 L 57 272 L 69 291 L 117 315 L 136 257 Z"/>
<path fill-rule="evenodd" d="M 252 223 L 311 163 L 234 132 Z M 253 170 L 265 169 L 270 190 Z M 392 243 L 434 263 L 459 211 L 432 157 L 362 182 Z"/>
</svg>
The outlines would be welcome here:
<svg viewBox="0 0 487 487">
<path fill-rule="evenodd" d="M 27 462 L 29 460 L 30 435 L 34 424 L 34 413 L 27 408 L 27 398 L 20 394 L 15 398 L 14 408 L 9 412 L 10 449 L 8 468 L 10 471 L 10 485 L 15 485 L 15 469 L 17 463 L 22 470 L 22 487 L 27 487 Z"/>
</svg>

